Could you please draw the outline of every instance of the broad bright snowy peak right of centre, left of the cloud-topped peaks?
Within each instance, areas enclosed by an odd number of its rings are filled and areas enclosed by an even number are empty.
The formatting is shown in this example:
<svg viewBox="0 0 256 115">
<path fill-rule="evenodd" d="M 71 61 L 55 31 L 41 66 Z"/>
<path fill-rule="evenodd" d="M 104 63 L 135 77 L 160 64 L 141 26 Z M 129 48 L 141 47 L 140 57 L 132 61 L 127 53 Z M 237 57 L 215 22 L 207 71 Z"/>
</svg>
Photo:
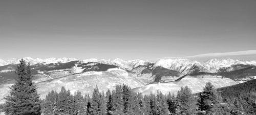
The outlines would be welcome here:
<svg viewBox="0 0 256 115">
<path fill-rule="evenodd" d="M 161 66 L 169 70 L 178 71 L 182 74 L 205 71 L 205 68 L 198 61 L 189 59 L 160 59 L 156 61 L 154 67 Z"/>
</svg>

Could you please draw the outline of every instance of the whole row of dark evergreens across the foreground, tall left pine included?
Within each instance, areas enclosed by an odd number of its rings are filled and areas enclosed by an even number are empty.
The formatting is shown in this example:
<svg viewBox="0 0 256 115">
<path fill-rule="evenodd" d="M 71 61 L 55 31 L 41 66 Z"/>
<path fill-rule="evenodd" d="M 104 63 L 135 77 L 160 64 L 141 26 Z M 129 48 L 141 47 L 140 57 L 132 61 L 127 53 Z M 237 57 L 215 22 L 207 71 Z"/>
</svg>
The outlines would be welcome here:
<svg viewBox="0 0 256 115">
<path fill-rule="evenodd" d="M 93 94 L 82 95 L 80 91 L 71 94 L 62 87 L 59 92 L 50 91 L 40 100 L 32 82 L 29 64 L 24 60 L 17 66 L 18 79 L 11 86 L 4 111 L 6 114 L 86 114 L 86 115 L 203 115 L 203 114 L 245 114 L 237 101 L 223 101 L 211 83 L 194 95 L 187 86 L 181 87 L 176 95 L 164 95 L 161 91 L 142 95 L 127 85 L 117 85 L 115 90 L 100 92 L 95 87 Z M 247 113 L 246 113 L 247 114 Z M 253 114 L 253 113 L 252 113 Z"/>
</svg>

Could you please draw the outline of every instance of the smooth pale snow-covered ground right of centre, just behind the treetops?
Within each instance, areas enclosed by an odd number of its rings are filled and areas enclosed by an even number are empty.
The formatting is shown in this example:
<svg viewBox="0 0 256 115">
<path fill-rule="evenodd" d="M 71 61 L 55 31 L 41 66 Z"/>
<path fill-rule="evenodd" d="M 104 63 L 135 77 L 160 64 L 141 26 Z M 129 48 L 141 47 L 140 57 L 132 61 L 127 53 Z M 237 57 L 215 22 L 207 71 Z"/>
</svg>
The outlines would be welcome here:
<svg viewBox="0 0 256 115">
<path fill-rule="evenodd" d="M 163 94 L 167 94 L 170 92 L 176 95 L 177 91 L 180 90 L 181 87 L 188 86 L 189 88 L 191 88 L 192 93 L 199 93 L 203 90 L 203 87 L 207 82 L 211 82 L 212 84 L 214 84 L 215 88 L 238 84 L 238 82 L 235 82 L 229 78 L 195 78 L 187 76 L 177 82 L 148 84 L 142 87 L 135 88 L 134 90 L 141 92 L 145 95 L 149 95 L 151 93 L 156 94 L 157 90 L 162 91 Z"/>
</svg>

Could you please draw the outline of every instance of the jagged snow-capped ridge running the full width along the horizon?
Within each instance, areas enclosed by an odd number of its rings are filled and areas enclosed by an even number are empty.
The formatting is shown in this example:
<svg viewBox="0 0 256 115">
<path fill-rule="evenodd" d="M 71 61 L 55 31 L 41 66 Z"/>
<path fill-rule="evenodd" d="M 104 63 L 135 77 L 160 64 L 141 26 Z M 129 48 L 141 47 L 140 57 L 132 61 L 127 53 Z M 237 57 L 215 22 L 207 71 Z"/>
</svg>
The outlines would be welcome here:
<svg viewBox="0 0 256 115">
<path fill-rule="evenodd" d="M 110 64 L 116 65 L 124 70 L 132 71 L 136 67 L 139 66 L 147 66 L 148 64 L 153 64 L 156 68 L 158 66 L 167 68 L 169 70 L 174 70 L 182 73 L 182 75 L 192 74 L 197 72 L 208 72 L 208 73 L 217 73 L 225 71 L 232 71 L 234 65 L 256 65 L 256 61 L 244 61 L 244 60 L 233 60 L 233 59 L 210 59 L 204 63 L 200 63 L 198 61 L 189 60 L 189 59 L 160 59 L 156 62 L 149 62 L 145 60 L 122 60 L 122 59 L 113 59 L 113 60 L 106 60 L 106 59 L 85 59 L 85 60 L 78 60 L 75 58 L 47 58 L 47 59 L 40 59 L 40 58 L 31 58 L 25 57 L 23 58 L 31 65 L 41 63 L 41 64 L 50 64 L 50 63 L 67 63 L 71 61 L 81 61 L 83 63 L 88 62 L 97 62 L 102 64 Z M 0 59 L 0 66 L 8 65 L 8 64 L 17 64 L 19 63 L 20 59 L 11 58 L 7 61 Z M 141 69 L 140 69 L 141 70 Z M 143 70 L 141 70 L 143 71 Z"/>
</svg>

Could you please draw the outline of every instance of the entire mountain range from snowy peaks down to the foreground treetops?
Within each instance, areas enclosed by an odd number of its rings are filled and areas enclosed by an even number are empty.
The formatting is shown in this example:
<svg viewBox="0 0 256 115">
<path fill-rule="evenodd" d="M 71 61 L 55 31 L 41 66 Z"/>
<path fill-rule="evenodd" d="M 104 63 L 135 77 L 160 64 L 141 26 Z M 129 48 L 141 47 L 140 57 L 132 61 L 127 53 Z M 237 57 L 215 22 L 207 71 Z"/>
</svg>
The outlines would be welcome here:
<svg viewBox="0 0 256 115">
<path fill-rule="evenodd" d="M 189 59 L 106 60 L 74 58 L 23 58 L 31 65 L 33 81 L 42 98 L 48 91 L 65 86 L 73 93 L 76 90 L 91 94 L 113 89 L 118 84 L 127 84 L 143 94 L 176 94 L 182 86 L 189 86 L 193 93 L 202 91 L 206 82 L 216 88 L 231 86 L 256 79 L 256 61 L 233 59 L 209 59 L 204 63 Z M 0 59 L 0 103 L 8 95 L 17 76 L 15 67 L 20 59 Z"/>
</svg>

